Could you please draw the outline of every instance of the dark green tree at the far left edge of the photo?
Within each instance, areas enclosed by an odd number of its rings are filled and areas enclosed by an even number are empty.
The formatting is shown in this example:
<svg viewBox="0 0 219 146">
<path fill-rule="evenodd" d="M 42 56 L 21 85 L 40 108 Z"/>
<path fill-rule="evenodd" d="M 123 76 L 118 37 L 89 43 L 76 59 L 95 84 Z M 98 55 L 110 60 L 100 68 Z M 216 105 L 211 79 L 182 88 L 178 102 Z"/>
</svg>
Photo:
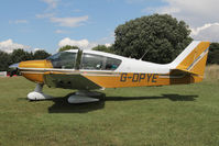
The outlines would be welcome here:
<svg viewBox="0 0 219 146">
<path fill-rule="evenodd" d="M 9 70 L 10 64 L 11 64 L 10 55 L 6 52 L 0 50 L 0 71 Z"/>
</svg>

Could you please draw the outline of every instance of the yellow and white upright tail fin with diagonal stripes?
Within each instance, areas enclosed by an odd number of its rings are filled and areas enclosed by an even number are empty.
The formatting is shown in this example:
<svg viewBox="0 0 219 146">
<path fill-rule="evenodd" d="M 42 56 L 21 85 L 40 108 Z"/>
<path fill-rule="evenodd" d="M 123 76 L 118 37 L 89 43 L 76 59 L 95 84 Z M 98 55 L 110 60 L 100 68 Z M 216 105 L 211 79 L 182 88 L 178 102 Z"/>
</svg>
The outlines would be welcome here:
<svg viewBox="0 0 219 146">
<path fill-rule="evenodd" d="M 173 68 L 202 77 L 209 45 L 209 42 L 191 42 L 190 45 L 188 45 L 185 50 L 171 63 Z"/>
</svg>

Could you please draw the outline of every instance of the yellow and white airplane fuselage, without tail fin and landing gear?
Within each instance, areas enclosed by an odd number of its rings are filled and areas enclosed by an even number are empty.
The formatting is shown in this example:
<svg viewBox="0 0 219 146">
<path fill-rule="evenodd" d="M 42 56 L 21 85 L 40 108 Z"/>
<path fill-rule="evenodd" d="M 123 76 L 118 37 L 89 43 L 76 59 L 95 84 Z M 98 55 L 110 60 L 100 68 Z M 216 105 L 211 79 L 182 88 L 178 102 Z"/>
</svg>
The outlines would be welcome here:
<svg viewBox="0 0 219 146">
<path fill-rule="evenodd" d="M 180 59 L 180 58 L 179 58 Z M 183 59 L 182 59 L 183 60 Z M 160 65 L 96 50 L 67 50 L 44 60 L 21 61 L 25 78 L 48 87 L 91 90 L 100 88 L 193 83 L 202 77 Z"/>
</svg>

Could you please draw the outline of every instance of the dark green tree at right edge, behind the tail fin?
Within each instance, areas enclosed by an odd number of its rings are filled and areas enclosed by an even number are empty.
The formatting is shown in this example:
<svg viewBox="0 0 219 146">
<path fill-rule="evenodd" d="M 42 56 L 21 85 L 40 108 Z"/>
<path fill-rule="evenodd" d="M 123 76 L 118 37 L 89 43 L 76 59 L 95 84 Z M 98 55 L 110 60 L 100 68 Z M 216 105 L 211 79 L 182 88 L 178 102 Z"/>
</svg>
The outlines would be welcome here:
<svg viewBox="0 0 219 146">
<path fill-rule="evenodd" d="M 219 64 L 219 43 L 211 43 L 208 54 L 208 64 Z"/>
</svg>

